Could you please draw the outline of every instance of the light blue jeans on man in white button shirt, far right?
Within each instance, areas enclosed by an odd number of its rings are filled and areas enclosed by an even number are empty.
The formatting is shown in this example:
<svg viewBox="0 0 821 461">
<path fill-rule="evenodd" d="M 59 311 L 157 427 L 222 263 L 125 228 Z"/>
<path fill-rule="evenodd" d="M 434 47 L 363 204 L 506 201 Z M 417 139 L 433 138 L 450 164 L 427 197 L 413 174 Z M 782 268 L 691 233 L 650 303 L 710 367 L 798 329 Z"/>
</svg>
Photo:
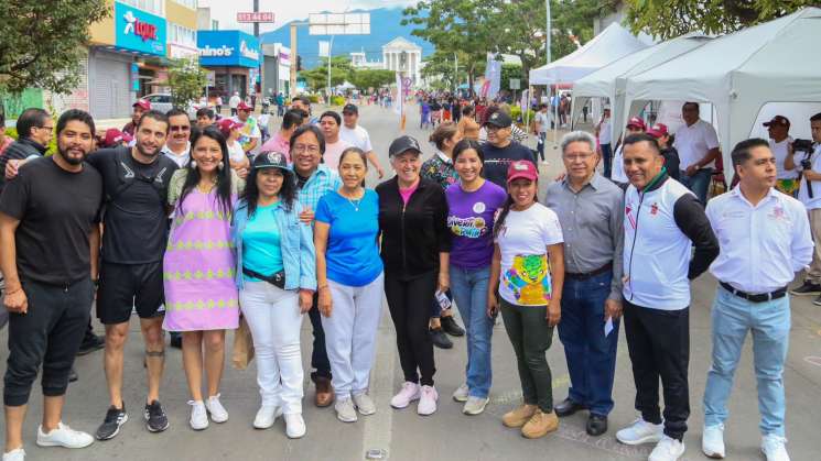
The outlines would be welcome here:
<svg viewBox="0 0 821 461">
<path fill-rule="evenodd" d="M 704 425 L 723 424 L 727 398 L 747 331 L 753 333 L 753 363 L 758 382 L 759 428 L 763 435 L 784 437 L 784 362 L 790 338 L 788 296 L 750 303 L 723 287 L 715 294 L 712 311 L 713 366 L 704 388 Z"/>
</svg>

